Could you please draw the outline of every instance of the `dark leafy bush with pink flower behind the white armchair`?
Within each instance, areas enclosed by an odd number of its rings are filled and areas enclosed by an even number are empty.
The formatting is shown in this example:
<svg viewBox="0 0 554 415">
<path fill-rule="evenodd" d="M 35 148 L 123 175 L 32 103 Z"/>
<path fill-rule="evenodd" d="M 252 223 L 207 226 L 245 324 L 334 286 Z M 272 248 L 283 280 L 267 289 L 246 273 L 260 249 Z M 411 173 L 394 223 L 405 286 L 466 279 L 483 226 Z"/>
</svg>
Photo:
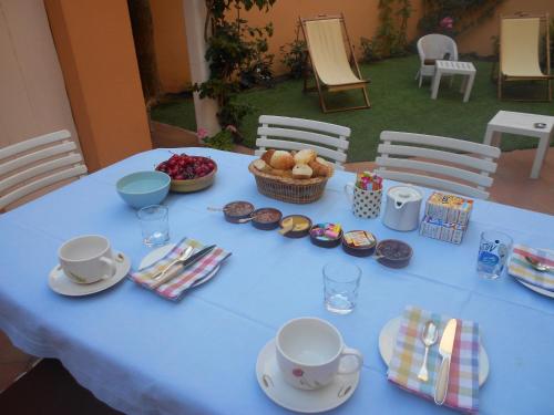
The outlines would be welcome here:
<svg viewBox="0 0 554 415">
<path fill-rule="evenodd" d="M 456 37 L 491 18 L 504 0 L 423 0 L 418 28 L 423 34 L 442 32 Z M 452 24 L 444 24 L 451 19 Z"/>
</svg>

